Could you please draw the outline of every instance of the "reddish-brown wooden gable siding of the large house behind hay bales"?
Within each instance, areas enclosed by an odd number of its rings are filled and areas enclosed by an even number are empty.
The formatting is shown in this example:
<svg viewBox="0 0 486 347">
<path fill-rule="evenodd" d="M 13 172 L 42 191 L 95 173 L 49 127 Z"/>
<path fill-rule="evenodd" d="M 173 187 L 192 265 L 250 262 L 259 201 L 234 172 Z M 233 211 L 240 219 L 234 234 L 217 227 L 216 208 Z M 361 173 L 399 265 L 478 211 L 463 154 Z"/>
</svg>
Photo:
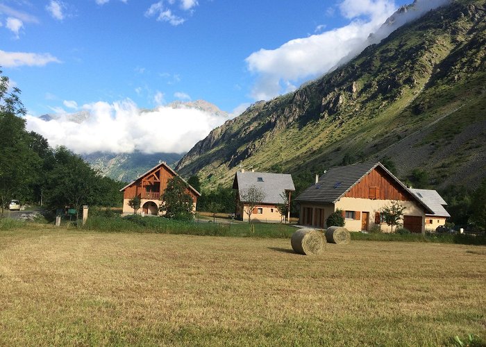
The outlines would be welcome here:
<svg viewBox="0 0 486 347">
<path fill-rule="evenodd" d="M 399 184 L 377 167 L 344 194 L 346 198 L 411 201 L 412 197 Z"/>
</svg>

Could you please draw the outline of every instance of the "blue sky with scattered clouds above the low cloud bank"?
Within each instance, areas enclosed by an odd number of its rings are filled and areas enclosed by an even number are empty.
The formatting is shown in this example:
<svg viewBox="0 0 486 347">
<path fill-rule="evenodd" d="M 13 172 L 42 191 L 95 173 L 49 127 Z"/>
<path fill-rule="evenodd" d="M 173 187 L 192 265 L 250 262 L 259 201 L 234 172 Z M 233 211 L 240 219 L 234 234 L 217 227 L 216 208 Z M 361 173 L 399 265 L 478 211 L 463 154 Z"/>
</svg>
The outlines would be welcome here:
<svg viewBox="0 0 486 347">
<path fill-rule="evenodd" d="M 30 119 L 105 110 L 116 120 L 124 107 L 140 117 L 143 109 L 197 99 L 233 117 L 324 74 L 410 2 L 0 0 L 0 66 L 22 90 Z M 201 134 L 222 121 L 209 119 Z M 63 129 L 49 141 L 66 144 Z M 201 134 L 176 150 L 187 151 Z"/>
</svg>

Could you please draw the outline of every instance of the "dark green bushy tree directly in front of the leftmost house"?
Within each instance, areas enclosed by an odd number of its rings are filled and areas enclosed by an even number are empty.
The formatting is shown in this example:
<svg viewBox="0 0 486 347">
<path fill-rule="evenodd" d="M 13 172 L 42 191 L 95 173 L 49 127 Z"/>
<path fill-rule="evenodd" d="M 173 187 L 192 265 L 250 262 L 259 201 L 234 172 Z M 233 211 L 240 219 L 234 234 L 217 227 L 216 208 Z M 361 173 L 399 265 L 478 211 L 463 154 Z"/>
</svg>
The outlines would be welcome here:
<svg viewBox="0 0 486 347">
<path fill-rule="evenodd" d="M 166 218 L 192 219 L 194 201 L 187 192 L 187 187 L 187 183 L 179 176 L 174 176 L 167 181 L 167 188 L 162 195 L 164 202 L 160 206 L 160 211 L 165 212 Z"/>
</svg>

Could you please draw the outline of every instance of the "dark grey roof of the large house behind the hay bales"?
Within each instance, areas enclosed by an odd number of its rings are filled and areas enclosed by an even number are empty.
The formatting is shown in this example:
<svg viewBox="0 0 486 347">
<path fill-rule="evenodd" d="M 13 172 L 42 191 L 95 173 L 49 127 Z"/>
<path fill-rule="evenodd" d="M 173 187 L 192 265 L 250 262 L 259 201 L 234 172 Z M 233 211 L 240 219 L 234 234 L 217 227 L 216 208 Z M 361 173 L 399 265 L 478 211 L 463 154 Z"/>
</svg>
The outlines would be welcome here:
<svg viewBox="0 0 486 347">
<path fill-rule="evenodd" d="M 410 192 L 410 190 L 380 162 L 354 164 L 346 167 L 333 167 L 326 171 L 325 174 L 321 175 L 316 184 L 311 185 L 301 192 L 295 200 L 308 203 L 336 203 L 342 196 L 344 196 L 344 194 L 346 194 L 346 192 L 349 192 L 354 185 L 358 184 L 364 176 L 369 174 L 376 167 L 385 170 L 397 184 L 401 185 L 406 192 L 410 193 L 412 198 L 415 198 L 416 201 L 425 208 L 426 212 L 432 212 L 423 201 L 412 194 L 412 192 Z"/>
</svg>

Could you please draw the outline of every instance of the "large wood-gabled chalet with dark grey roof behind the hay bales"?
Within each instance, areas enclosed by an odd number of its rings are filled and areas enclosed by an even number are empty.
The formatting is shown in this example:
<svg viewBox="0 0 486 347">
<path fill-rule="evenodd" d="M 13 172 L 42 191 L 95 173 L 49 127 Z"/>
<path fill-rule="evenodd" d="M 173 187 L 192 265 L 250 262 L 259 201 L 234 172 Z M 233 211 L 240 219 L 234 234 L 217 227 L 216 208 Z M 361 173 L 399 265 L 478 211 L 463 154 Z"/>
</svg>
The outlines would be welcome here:
<svg viewBox="0 0 486 347">
<path fill-rule="evenodd" d="M 315 185 L 305 189 L 296 201 L 301 205 L 299 223 L 313 228 L 327 228 L 326 219 L 339 209 L 350 231 L 369 230 L 374 225 L 390 231 L 380 210 L 399 201 L 405 207 L 403 227 L 424 232 L 426 214 L 433 213 L 380 162 L 333 167 L 317 176 Z"/>
</svg>

